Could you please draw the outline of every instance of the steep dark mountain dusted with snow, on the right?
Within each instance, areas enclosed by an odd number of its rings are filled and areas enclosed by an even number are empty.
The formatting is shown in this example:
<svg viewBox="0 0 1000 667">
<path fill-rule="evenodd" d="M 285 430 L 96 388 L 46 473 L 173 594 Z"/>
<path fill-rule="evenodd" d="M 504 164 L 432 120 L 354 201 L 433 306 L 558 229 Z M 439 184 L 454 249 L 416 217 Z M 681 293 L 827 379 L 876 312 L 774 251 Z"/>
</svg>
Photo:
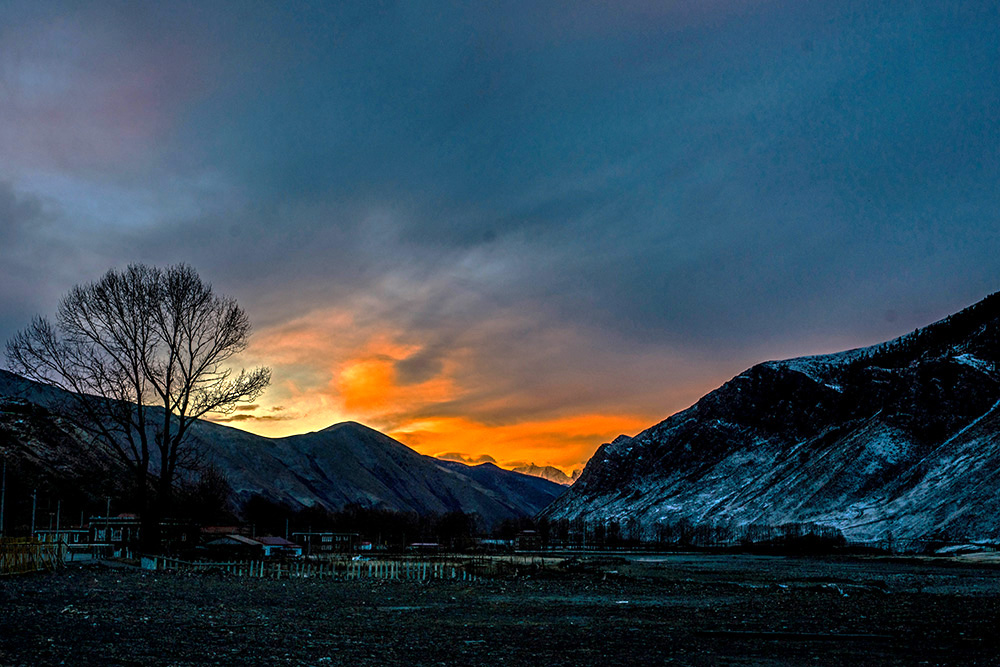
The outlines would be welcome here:
<svg viewBox="0 0 1000 667">
<path fill-rule="evenodd" d="M 881 345 L 762 363 L 603 445 L 542 514 L 646 540 L 1000 540 L 998 362 L 1000 293 Z"/>
</svg>

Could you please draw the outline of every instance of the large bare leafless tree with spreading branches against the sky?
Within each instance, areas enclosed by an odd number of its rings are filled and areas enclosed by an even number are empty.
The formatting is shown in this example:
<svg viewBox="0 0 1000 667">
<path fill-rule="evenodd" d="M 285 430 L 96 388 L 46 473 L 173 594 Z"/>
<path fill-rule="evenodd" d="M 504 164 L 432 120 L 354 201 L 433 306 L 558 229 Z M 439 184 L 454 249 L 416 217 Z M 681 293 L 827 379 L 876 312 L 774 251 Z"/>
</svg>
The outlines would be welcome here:
<svg viewBox="0 0 1000 667">
<path fill-rule="evenodd" d="M 108 271 L 70 290 L 55 323 L 37 317 L 7 342 L 10 369 L 69 392 L 65 414 L 134 475 L 144 542 L 156 546 L 190 426 L 232 412 L 270 382 L 267 368 L 235 373 L 246 313 L 187 265 Z"/>
</svg>

